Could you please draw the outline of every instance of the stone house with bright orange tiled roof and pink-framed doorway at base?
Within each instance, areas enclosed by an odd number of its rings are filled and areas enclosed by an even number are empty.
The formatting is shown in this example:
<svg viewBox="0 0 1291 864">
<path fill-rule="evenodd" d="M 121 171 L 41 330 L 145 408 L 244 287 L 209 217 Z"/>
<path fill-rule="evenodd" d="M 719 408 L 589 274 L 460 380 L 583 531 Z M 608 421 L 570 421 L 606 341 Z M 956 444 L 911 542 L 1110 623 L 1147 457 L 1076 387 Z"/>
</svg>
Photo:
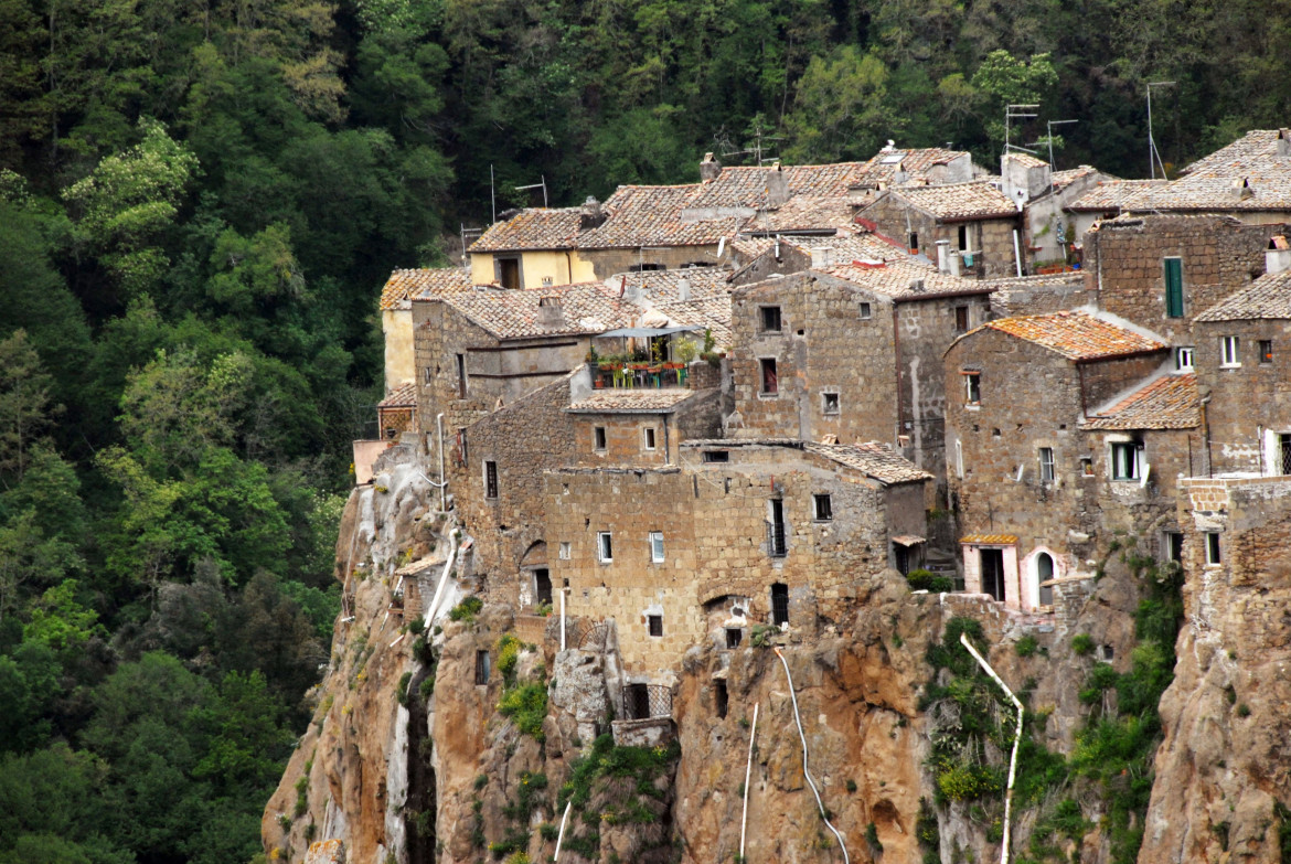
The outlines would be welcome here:
<svg viewBox="0 0 1291 864">
<path fill-rule="evenodd" d="M 1043 582 L 1113 532 L 1155 546 L 1171 530 L 1201 439 L 1195 376 L 1162 340 L 1087 311 L 998 319 L 950 346 L 945 376 L 966 590 L 1043 610 Z"/>
</svg>

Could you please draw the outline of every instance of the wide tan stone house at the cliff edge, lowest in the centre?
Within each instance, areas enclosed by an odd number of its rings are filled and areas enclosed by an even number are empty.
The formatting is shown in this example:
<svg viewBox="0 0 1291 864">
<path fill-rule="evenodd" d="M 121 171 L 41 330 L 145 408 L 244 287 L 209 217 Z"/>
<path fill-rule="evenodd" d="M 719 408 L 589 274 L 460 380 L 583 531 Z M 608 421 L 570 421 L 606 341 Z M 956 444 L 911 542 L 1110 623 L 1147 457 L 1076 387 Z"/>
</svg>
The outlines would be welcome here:
<svg viewBox="0 0 1291 864">
<path fill-rule="evenodd" d="M 857 585 L 917 562 L 926 471 L 882 444 L 689 440 L 678 465 L 545 475 L 567 611 L 617 622 L 626 672 L 660 681 L 754 624 L 815 634 Z M 908 545 L 902 545 L 908 544 Z"/>
</svg>

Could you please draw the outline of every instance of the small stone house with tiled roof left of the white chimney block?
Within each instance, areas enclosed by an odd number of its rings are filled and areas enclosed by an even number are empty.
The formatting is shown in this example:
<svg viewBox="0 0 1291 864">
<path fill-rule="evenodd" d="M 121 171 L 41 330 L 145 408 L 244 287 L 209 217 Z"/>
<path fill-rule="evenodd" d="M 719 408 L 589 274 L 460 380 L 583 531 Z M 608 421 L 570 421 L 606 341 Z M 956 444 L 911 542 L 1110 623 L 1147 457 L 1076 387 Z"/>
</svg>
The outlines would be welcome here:
<svg viewBox="0 0 1291 864">
<path fill-rule="evenodd" d="M 911 254 L 930 254 L 946 240 L 964 275 L 1019 275 L 1015 232 L 1021 216 L 995 181 L 892 187 L 861 208 L 857 223 L 904 239 Z"/>
</svg>

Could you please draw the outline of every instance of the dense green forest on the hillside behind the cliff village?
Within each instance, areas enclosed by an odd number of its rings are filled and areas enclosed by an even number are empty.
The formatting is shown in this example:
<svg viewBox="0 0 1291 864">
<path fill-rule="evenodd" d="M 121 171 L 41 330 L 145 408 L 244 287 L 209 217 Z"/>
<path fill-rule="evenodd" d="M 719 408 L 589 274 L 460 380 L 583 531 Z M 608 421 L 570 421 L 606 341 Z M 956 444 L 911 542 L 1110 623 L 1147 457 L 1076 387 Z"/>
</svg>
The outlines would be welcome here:
<svg viewBox="0 0 1291 864">
<path fill-rule="evenodd" d="M 1145 173 L 1291 116 L 1232 0 L 0 0 L 0 864 L 249 861 L 340 608 L 394 267 L 887 139 Z M 492 177 L 492 181 L 491 181 Z"/>
</svg>

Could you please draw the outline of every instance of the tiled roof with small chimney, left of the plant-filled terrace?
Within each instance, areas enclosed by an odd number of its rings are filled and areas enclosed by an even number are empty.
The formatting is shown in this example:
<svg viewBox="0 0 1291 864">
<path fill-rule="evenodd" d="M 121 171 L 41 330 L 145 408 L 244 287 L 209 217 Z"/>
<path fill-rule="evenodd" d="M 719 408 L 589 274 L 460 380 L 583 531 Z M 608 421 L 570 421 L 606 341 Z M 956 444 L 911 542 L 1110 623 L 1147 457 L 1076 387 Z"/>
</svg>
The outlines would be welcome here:
<svg viewBox="0 0 1291 864">
<path fill-rule="evenodd" d="M 538 323 L 538 303 L 559 297 L 564 323 Z M 541 291 L 474 291 L 447 294 L 442 300 L 498 338 L 604 333 L 629 327 L 642 310 L 618 298 L 599 282 L 559 285 Z"/>
</svg>

